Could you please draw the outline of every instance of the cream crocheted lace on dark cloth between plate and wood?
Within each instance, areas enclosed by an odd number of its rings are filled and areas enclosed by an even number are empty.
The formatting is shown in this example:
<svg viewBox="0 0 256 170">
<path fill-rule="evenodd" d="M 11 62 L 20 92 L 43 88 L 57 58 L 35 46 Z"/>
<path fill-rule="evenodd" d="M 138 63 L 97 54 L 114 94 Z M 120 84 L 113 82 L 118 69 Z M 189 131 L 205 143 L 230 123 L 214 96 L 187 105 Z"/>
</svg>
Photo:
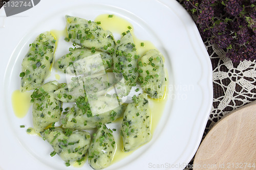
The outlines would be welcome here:
<svg viewBox="0 0 256 170">
<path fill-rule="evenodd" d="M 223 116 L 256 100 L 256 62 L 244 60 L 232 63 L 217 45 L 208 40 L 204 43 L 212 64 L 214 100 L 203 138 Z M 193 160 L 189 163 L 190 167 Z"/>
</svg>

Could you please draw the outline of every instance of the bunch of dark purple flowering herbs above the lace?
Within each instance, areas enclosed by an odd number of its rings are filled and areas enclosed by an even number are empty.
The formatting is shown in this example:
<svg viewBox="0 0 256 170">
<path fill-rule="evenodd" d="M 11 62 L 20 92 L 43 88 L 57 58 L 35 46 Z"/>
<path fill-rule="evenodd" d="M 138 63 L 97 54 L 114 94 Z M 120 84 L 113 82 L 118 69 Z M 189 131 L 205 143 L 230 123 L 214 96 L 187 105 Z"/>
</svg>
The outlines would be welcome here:
<svg viewBox="0 0 256 170">
<path fill-rule="evenodd" d="M 255 0 L 177 0 L 196 22 L 202 39 L 234 63 L 256 59 Z"/>
</svg>

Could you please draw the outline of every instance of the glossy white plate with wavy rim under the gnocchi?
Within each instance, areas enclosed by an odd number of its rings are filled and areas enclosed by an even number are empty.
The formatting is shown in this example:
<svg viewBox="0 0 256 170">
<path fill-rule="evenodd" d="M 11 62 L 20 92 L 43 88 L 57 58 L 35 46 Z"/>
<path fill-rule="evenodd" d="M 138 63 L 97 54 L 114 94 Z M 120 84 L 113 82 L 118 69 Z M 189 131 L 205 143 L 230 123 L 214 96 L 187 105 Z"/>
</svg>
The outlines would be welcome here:
<svg viewBox="0 0 256 170">
<path fill-rule="evenodd" d="M 165 56 L 170 80 L 167 105 L 152 140 L 108 169 L 183 169 L 196 153 L 212 104 L 212 69 L 186 11 L 175 0 L 44 0 L 10 17 L 0 10 L 0 169 L 77 169 L 50 157 L 47 142 L 19 127 L 32 126 L 32 118 L 15 117 L 11 94 L 19 89 L 20 64 L 28 44 L 39 33 L 63 30 L 66 14 L 93 20 L 103 13 L 125 18 L 138 38 L 153 42 Z"/>
</svg>

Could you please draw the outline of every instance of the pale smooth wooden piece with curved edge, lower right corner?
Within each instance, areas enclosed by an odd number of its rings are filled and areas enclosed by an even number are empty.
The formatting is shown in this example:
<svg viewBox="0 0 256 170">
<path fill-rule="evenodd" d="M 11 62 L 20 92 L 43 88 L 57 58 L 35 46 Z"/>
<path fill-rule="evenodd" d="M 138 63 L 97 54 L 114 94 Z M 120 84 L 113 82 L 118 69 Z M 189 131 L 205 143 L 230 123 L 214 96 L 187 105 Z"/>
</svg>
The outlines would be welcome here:
<svg viewBox="0 0 256 170">
<path fill-rule="evenodd" d="M 193 169 L 256 169 L 256 101 L 233 110 L 212 127 Z"/>
</svg>

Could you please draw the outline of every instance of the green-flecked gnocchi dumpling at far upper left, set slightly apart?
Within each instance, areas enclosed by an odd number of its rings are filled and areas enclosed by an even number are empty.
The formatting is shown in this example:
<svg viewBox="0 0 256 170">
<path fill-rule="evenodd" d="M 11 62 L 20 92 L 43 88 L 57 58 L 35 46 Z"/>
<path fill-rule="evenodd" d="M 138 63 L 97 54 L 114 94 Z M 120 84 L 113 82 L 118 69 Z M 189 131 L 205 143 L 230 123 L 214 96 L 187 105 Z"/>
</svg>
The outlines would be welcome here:
<svg viewBox="0 0 256 170">
<path fill-rule="evenodd" d="M 41 33 L 30 44 L 29 52 L 22 62 L 20 73 L 22 92 L 33 90 L 44 84 L 53 62 L 56 40 L 50 32 Z"/>
</svg>

